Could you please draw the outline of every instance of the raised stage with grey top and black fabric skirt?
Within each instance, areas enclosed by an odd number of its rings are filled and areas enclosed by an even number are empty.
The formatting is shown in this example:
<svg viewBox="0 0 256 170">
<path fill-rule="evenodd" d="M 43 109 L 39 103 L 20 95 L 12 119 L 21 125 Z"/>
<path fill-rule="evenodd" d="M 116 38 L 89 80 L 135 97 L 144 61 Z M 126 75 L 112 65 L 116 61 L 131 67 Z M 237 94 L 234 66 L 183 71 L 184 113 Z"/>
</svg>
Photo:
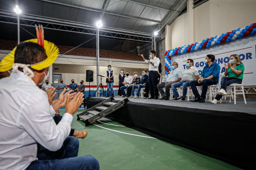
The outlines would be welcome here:
<svg viewBox="0 0 256 170">
<path fill-rule="evenodd" d="M 107 98 L 86 99 L 90 108 Z M 220 159 L 234 166 L 255 167 L 255 101 L 238 99 L 216 105 L 171 100 L 127 99 L 107 117 L 171 144 Z"/>
</svg>

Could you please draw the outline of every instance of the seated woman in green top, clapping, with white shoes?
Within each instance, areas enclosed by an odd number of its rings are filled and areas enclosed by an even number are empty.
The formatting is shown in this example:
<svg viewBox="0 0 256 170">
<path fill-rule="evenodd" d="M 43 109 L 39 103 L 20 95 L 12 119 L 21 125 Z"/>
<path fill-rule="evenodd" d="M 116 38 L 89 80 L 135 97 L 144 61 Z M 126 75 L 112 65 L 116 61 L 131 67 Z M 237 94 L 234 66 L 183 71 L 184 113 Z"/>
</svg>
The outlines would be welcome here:
<svg viewBox="0 0 256 170">
<path fill-rule="evenodd" d="M 244 78 L 244 64 L 241 62 L 239 55 L 233 54 L 229 57 L 228 65 L 225 63 L 225 73 L 220 82 L 220 91 L 216 95 L 215 99 L 212 100 L 213 104 L 220 101 L 222 96 L 227 95 L 227 86 L 231 84 L 241 84 Z"/>
</svg>

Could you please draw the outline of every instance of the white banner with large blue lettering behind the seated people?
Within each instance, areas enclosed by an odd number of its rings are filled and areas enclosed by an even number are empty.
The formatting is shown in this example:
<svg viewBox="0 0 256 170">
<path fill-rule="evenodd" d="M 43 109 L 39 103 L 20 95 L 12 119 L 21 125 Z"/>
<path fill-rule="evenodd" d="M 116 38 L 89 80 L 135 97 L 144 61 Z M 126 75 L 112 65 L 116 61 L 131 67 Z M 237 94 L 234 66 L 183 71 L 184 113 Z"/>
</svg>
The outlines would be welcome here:
<svg viewBox="0 0 256 170">
<path fill-rule="evenodd" d="M 220 76 L 225 72 L 224 63 L 229 62 L 229 56 L 237 54 L 244 63 L 244 85 L 256 85 L 256 36 L 245 37 L 225 44 L 214 45 L 199 51 L 193 51 L 177 56 L 172 56 L 172 62 L 179 64 L 179 69 L 183 72 L 186 68 L 188 58 L 194 60 L 201 75 L 205 66 L 204 60 L 207 54 L 215 55 L 215 62 L 220 64 Z M 220 77 L 221 78 L 221 77 Z"/>
</svg>

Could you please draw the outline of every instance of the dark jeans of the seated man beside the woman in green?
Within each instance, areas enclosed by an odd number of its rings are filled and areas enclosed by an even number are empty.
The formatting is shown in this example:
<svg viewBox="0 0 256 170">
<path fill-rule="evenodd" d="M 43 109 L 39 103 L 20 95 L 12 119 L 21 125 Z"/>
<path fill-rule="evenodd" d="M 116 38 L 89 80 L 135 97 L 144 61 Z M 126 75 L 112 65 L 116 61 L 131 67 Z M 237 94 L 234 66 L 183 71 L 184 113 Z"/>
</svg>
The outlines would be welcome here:
<svg viewBox="0 0 256 170">
<path fill-rule="evenodd" d="M 191 89 L 193 91 L 193 94 L 195 95 L 196 98 L 202 98 L 202 100 L 205 99 L 207 90 L 208 90 L 208 85 L 217 85 L 216 81 L 213 79 L 204 79 L 202 83 L 198 83 L 197 80 L 191 81 L 190 83 Z M 202 94 L 201 96 L 199 95 L 196 86 L 202 86 Z"/>
</svg>

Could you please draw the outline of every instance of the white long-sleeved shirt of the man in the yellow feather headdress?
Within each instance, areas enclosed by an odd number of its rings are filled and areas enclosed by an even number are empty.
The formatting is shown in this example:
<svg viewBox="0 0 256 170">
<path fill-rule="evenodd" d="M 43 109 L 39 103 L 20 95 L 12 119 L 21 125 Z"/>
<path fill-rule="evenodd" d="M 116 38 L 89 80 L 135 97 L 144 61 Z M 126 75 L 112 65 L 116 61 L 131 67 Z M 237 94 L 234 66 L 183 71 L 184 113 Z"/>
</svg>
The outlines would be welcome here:
<svg viewBox="0 0 256 170">
<path fill-rule="evenodd" d="M 46 93 L 27 75 L 0 79 L 0 99 L 0 169 L 26 169 L 36 160 L 37 142 L 50 151 L 61 148 L 73 116 L 65 113 L 56 125 Z"/>
</svg>

